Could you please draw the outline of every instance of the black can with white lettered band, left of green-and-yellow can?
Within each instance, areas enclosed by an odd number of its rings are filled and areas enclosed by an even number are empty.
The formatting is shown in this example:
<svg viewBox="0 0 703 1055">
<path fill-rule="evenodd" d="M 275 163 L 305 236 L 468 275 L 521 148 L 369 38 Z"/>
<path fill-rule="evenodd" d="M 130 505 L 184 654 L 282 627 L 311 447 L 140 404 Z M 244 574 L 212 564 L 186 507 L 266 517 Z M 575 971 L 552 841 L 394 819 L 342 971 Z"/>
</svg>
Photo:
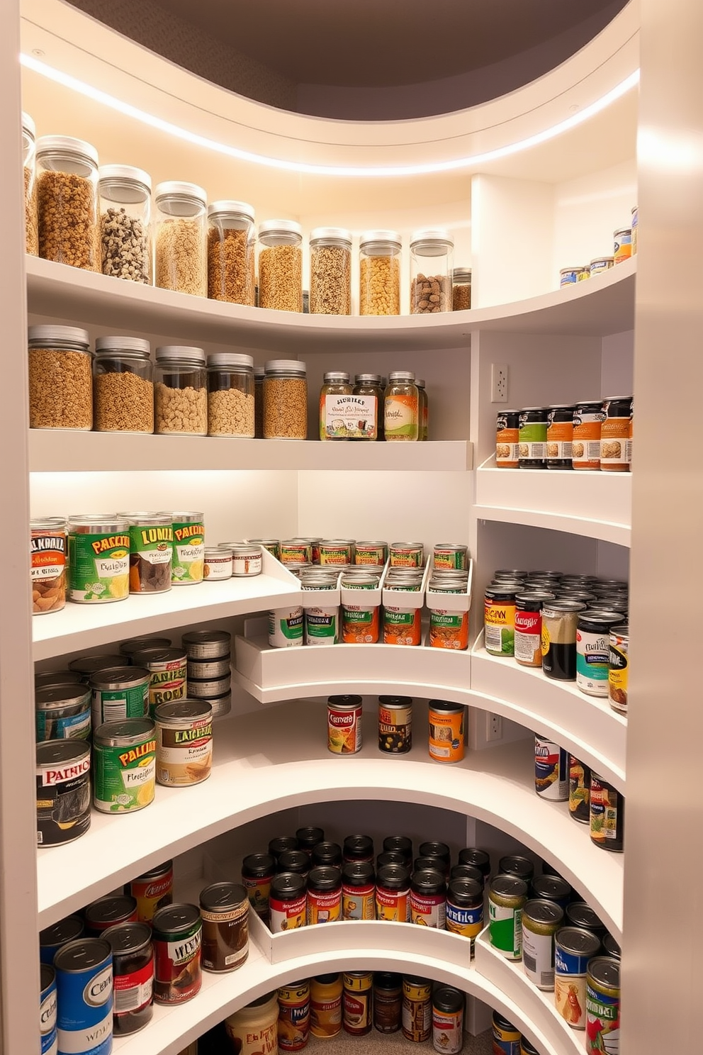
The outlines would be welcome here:
<svg viewBox="0 0 703 1055">
<path fill-rule="evenodd" d="M 71 843 L 91 826 L 91 748 L 82 740 L 37 744 L 37 845 Z"/>
</svg>

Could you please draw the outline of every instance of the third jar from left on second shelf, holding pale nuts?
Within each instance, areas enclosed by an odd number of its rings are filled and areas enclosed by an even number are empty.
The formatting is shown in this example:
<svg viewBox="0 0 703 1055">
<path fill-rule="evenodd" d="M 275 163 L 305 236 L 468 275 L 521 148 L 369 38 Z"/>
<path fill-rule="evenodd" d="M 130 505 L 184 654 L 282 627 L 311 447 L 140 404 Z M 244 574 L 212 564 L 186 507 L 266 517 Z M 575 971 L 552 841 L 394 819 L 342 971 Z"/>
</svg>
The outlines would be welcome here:
<svg viewBox="0 0 703 1055">
<path fill-rule="evenodd" d="M 208 387 L 202 348 L 157 348 L 155 380 L 155 431 L 159 436 L 207 436 Z"/>
</svg>

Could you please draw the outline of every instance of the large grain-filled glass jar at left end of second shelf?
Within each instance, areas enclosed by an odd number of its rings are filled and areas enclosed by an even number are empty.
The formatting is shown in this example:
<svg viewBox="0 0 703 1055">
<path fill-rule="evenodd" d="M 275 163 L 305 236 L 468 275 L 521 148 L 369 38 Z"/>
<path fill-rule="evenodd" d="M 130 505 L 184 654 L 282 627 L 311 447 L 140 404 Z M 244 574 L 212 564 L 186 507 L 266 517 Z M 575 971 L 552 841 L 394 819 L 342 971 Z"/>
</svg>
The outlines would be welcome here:
<svg viewBox="0 0 703 1055">
<path fill-rule="evenodd" d="M 93 427 L 87 330 L 30 326 L 30 428 Z"/>
</svg>

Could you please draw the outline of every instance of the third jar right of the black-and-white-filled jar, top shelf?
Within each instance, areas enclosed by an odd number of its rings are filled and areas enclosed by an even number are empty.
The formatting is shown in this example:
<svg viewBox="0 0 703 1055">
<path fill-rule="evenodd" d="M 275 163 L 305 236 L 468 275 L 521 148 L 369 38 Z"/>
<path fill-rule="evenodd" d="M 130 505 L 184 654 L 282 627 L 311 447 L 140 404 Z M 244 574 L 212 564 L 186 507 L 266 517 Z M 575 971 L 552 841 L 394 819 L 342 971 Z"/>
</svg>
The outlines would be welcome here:
<svg viewBox="0 0 703 1055">
<path fill-rule="evenodd" d="M 259 225 L 258 306 L 302 311 L 302 228 L 294 219 Z"/>
</svg>

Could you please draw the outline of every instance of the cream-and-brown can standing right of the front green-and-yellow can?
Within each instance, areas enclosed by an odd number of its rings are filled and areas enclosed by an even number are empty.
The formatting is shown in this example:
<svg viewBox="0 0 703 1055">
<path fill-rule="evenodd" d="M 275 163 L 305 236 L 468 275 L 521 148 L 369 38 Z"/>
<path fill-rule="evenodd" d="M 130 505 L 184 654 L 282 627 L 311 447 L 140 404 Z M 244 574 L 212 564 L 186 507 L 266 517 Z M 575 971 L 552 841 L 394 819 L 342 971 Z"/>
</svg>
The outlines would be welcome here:
<svg viewBox="0 0 703 1055">
<path fill-rule="evenodd" d="M 212 707 L 204 699 L 159 704 L 156 782 L 169 787 L 200 784 L 212 770 Z"/>
</svg>

